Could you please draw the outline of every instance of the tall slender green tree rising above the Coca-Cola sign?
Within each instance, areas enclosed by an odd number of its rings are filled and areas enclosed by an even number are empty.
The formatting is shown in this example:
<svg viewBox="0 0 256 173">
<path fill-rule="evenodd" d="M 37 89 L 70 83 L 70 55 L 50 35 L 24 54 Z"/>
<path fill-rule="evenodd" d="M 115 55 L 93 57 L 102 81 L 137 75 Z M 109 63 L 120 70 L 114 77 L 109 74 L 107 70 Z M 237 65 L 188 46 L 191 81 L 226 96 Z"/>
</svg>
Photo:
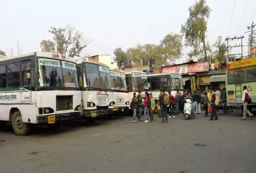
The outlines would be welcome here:
<svg viewBox="0 0 256 173">
<path fill-rule="evenodd" d="M 190 16 L 181 25 L 181 33 L 185 36 L 185 46 L 194 49 L 194 54 L 199 54 L 199 46 L 203 44 L 204 59 L 207 61 L 206 31 L 211 9 L 206 5 L 206 0 L 196 1 L 188 8 Z"/>
</svg>

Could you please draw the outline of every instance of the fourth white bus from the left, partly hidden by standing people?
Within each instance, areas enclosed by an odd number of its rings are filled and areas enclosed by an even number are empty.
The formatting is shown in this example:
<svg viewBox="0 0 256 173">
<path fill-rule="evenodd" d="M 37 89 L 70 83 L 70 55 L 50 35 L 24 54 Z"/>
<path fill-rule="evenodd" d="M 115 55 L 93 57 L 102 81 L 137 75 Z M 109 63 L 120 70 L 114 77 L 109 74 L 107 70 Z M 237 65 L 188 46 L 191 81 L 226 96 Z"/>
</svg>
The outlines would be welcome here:
<svg viewBox="0 0 256 173">
<path fill-rule="evenodd" d="M 145 91 L 149 91 L 147 85 L 147 73 L 141 71 L 126 72 L 126 86 L 129 91 L 130 103 L 133 99 L 134 92 L 138 95 L 139 91 L 142 91 L 141 97 L 145 100 Z"/>
</svg>

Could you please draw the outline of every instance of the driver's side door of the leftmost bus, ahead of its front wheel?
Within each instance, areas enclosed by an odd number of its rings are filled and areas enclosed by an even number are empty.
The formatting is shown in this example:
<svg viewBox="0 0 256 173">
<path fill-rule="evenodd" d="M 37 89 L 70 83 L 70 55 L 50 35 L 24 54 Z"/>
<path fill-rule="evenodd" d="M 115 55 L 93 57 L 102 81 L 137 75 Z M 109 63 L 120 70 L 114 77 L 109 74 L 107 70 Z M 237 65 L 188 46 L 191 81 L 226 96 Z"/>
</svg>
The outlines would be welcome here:
<svg viewBox="0 0 256 173">
<path fill-rule="evenodd" d="M 34 72 L 31 60 L 21 61 L 21 102 L 31 103 L 31 86 L 33 85 Z"/>
</svg>

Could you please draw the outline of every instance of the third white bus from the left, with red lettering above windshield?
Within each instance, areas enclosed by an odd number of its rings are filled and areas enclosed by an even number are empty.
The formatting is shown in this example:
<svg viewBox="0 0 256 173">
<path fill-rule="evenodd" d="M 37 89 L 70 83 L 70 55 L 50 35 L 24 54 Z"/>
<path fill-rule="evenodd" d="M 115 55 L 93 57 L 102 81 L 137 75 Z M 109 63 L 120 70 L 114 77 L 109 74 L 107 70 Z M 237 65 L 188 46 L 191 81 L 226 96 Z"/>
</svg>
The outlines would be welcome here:
<svg viewBox="0 0 256 173">
<path fill-rule="evenodd" d="M 111 88 L 114 91 L 114 108 L 113 113 L 129 111 L 129 91 L 126 86 L 126 74 L 118 68 L 110 68 Z"/>
</svg>

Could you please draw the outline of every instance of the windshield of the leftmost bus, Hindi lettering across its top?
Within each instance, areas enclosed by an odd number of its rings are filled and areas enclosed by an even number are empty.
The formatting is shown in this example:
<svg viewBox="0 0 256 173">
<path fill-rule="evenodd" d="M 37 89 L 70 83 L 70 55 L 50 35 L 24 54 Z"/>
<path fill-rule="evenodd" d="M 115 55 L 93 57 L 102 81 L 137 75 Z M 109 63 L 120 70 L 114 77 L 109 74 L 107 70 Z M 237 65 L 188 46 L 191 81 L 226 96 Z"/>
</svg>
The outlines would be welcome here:
<svg viewBox="0 0 256 173">
<path fill-rule="evenodd" d="M 39 86 L 78 87 L 76 64 L 38 58 Z"/>
</svg>

